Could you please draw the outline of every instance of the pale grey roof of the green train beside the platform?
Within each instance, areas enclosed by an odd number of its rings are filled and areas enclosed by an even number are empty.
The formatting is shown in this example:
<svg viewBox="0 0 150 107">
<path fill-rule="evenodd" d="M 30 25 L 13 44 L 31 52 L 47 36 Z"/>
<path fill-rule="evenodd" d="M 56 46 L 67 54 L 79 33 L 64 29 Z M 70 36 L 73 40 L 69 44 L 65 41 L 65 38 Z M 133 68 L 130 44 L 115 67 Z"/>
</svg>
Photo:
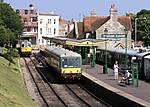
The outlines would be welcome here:
<svg viewBox="0 0 150 107">
<path fill-rule="evenodd" d="M 48 46 L 46 48 L 46 51 L 60 57 L 81 57 L 81 55 L 76 52 L 69 51 L 68 49 L 64 49 L 56 46 Z"/>
</svg>

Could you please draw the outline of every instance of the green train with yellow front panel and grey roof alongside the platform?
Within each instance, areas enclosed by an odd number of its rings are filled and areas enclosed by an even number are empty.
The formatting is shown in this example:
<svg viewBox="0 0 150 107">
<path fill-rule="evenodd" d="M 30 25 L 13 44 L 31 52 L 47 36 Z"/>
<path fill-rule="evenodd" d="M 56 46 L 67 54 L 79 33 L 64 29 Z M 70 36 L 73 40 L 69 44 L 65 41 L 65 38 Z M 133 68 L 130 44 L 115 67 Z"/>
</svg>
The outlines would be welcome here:
<svg viewBox="0 0 150 107">
<path fill-rule="evenodd" d="M 80 80 L 82 74 L 81 55 L 64 48 L 49 46 L 40 53 L 48 65 L 56 69 L 63 79 Z"/>
</svg>

